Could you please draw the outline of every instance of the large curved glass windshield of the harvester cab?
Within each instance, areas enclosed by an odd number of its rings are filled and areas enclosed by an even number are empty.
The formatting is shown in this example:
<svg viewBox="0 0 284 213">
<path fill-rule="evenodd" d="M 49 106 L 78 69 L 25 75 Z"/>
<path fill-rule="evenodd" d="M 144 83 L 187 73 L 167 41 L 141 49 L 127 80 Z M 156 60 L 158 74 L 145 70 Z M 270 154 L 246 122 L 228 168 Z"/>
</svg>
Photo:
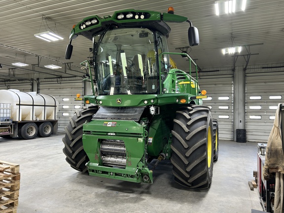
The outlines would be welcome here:
<svg viewBox="0 0 284 213">
<path fill-rule="evenodd" d="M 93 37 L 99 95 L 158 93 L 154 37 L 143 28 L 113 29 Z"/>
</svg>

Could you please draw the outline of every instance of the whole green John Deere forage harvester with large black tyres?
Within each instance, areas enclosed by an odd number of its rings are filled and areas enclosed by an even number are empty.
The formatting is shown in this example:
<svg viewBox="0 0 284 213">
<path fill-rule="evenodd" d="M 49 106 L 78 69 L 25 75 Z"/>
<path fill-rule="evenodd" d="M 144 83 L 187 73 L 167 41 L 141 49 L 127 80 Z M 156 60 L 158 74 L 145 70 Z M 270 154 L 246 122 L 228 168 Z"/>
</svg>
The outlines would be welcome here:
<svg viewBox="0 0 284 213">
<path fill-rule="evenodd" d="M 186 53 L 169 52 L 166 22 L 188 22 L 189 44 L 199 44 L 197 28 L 172 10 L 120 10 L 89 16 L 73 27 L 66 59 L 79 35 L 93 41 L 93 57 L 81 63 L 92 86 L 92 95 L 84 96 L 89 107 L 70 118 L 63 138 L 72 168 L 152 183 L 158 162 L 170 159 L 179 184 L 210 186 L 218 156 L 217 120 L 202 106 L 206 91 L 191 76 L 191 70 L 197 76 L 197 65 Z M 189 59 L 187 72 L 171 66 L 171 54 Z"/>
</svg>

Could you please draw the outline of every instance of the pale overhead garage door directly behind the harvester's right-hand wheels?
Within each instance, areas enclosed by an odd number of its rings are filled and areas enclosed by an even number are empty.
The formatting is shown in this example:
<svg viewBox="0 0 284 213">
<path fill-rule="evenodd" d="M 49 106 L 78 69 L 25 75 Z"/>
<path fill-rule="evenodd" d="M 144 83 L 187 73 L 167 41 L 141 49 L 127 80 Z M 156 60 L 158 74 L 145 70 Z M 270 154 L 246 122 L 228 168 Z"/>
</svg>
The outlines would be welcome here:
<svg viewBox="0 0 284 213">
<path fill-rule="evenodd" d="M 233 140 L 233 75 L 205 75 L 198 82 L 208 95 L 203 104 L 212 107 L 212 116 L 218 119 L 219 138 Z"/>
</svg>

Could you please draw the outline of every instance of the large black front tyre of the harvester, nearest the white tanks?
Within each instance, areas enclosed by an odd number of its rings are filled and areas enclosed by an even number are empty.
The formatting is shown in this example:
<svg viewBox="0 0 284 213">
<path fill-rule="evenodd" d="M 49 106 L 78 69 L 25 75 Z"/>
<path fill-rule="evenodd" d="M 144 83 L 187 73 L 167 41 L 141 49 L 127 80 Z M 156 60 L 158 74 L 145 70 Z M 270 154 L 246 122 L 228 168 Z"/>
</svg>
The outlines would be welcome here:
<svg viewBox="0 0 284 213">
<path fill-rule="evenodd" d="M 74 116 L 69 118 L 70 123 L 65 127 L 65 137 L 62 139 L 64 143 L 63 152 L 66 155 L 66 161 L 70 166 L 82 173 L 87 172 L 86 163 L 89 158 L 83 149 L 82 135 L 83 124 L 90 121 L 93 114 L 98 111 L 98 106 L 84 108 L 75 111 Z"/>
</svg>

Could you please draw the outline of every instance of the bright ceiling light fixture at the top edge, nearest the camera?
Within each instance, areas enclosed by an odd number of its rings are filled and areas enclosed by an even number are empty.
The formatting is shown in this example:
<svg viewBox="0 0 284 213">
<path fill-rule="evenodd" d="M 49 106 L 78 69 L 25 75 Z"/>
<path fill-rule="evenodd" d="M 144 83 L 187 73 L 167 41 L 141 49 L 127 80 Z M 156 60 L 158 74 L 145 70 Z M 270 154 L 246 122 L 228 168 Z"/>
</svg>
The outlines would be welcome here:
<svg viewBox="0 0 284 213">
<path fill-rule="evenodd" d="M 231 14 L 237 11 L 245 11 L 247 0 L 218 0 L 215 1 L 215 13 Z"/>
</svg>

